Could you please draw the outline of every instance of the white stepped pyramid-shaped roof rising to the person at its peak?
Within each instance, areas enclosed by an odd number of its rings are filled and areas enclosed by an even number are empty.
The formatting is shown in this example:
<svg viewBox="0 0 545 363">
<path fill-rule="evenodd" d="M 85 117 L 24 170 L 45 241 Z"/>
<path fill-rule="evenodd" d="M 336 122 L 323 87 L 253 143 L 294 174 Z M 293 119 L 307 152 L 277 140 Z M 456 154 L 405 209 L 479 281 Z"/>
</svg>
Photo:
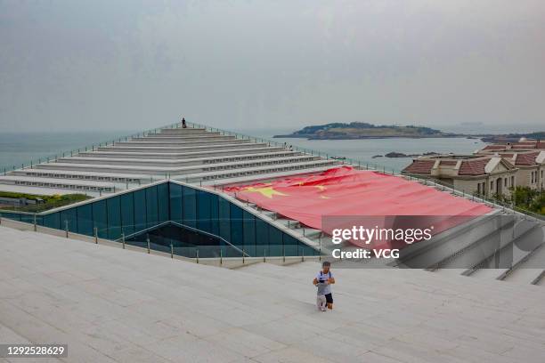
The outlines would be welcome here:
<svg viewBox="0 0 545 363">
<path fill-rule="evenodd" d="M 176 125 L 178 126 L 178 125 Z M 200 184 L 314 173 L 338 161 L 201 127 L 170 127 L 0 175 L 0 190 L 114 193 L 160 179 Z"/>
</svg>

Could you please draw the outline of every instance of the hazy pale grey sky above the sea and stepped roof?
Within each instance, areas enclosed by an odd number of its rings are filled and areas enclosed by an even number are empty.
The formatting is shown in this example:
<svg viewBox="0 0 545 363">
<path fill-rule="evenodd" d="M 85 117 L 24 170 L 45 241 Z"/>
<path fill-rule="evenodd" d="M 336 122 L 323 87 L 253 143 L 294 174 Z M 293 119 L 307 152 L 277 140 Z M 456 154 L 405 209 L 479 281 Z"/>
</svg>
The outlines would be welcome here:
<svg viewBox="0 0 545 363">
<path fill-rule="evenodd" d="M 545 129 L 544 0 L 0 0 L 2 130 Z"/>
</svg>

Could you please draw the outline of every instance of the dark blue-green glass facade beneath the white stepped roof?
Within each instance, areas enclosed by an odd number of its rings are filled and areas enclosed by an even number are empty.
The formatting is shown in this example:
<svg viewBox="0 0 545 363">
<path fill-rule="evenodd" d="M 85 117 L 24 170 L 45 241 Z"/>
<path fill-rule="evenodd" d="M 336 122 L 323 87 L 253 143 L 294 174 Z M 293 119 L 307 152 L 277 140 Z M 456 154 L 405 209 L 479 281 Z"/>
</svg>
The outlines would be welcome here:
<svg viewBox="0 0 545 363">
<path fill-rule="evenodd" d="M 2 212 L 1 215 L 3 218 L 22 222 L 34 220 L 31 214 Z M 68 228 L 70 232 L 87 236 L 94 236 L 96 229 L 99 238 L 115 240 L 124 235 L 126 239 L 133 238 L 134 241 L 142 241 L 142 238 L 134 238 L 142 231 L 157 230 L 168 222 L 191 230 L 183 235 L 186 242 L 199 231 L 204 232 L 205 237 L 193 238 L 196 241 L 193 243 L 195 246 L 200 243 L 199 241 L 223 240 L 226 246 L 223 250 L 225 257 L 240 254 L 240 251 L 249 256 L 319 254 L 297 238 L 215 193 L 168 181 L 110 198 L 90 201 L 60 212 L 37 216 L 37 224 L 45 227 L 57 230 Z M 153 236 L 155 241 L 160 239 L 158 232 L 154 232 Z M 168 240 L 172 242 L 175 238 L 171 234 Z M 152 245 L 154 248 L 160 244 Z M 164 248 L 162 245 L 158 247 L 161 250 Z M 170 250 L 170 247 L 167 249 Z M 176 250 L 175 253 L 183 254 L 182 250 Z"/>
</svg>

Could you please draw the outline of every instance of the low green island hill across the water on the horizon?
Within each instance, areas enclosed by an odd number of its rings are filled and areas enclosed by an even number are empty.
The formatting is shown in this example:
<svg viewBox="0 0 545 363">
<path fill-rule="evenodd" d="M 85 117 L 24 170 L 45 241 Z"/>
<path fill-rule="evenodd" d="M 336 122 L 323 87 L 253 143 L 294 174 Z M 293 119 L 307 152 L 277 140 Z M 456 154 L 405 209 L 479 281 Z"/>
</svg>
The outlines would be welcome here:
<svg viewBox="0 0 545 363">
<path fill-rule="evenodd" d="M 456 133 L 443 133 L 430 127 L 372 125 L 365 122 L 331 123 L 326 125 L 306 126 L 288 135 L 274 137 L 297 137 L 309 140 L 348 140 L 348 139 L 385 139 L 391 137 L 430 138 L 456 137 Z"/>
</svg>

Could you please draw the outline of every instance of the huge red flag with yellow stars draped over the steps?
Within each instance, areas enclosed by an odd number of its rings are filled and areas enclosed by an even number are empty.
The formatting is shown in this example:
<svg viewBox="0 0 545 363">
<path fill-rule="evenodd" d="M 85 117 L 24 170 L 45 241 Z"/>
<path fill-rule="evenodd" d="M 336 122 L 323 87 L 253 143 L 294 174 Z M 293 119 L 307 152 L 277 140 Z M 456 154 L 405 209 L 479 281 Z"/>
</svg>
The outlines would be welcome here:
<svg viewBox="0 0 545 363">
<path fill-rule="evenodd" d="M 225 191 L 319 230 L 323 216 L 443 216 L 437 233 L 492 211 L 416 181 L 349 166 Z"/>
</svg>

